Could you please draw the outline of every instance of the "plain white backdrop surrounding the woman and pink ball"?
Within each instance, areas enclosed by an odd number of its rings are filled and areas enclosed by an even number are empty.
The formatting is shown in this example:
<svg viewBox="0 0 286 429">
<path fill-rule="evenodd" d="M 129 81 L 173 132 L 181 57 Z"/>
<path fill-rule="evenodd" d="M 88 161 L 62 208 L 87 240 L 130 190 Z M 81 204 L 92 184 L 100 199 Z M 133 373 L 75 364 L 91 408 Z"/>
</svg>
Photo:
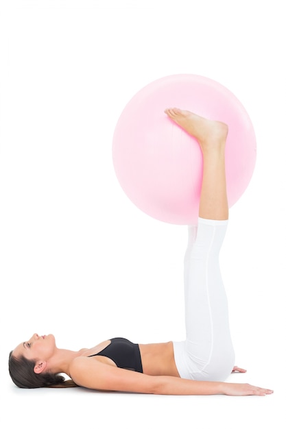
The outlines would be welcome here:
<svg viewBox="0 0 286 429">
<path fill-rule="evenodd" d="M 285 21 L 280 0 L 1 1 L 3 428 L 285 427 Z M 183 226 L 148 217 L 112 167 L 143 86 L 193 73 L 250 114 L 257 165 L 221 263 L 237 365 L 267 397 L 17 389 L 8 353 L 34 333 L 78 350 L 184 336 Z M 105 420 L 105 423 L 103 421 Z"/>
</svg>

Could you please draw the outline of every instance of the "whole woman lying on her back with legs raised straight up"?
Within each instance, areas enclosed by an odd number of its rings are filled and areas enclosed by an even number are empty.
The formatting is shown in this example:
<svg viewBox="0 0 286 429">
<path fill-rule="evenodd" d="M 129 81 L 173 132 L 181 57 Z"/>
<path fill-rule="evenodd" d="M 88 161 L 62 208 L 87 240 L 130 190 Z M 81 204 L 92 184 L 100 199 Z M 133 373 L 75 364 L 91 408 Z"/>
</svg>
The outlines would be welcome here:
<svg viewBox="0 0 286 429">
<path fill-rule="evenodd" d="M 23 388 L 71 387 L 160 395 L 267 395 L 270 389 L 225 382 L 235 367 L 219 250 L 228 224 L 224 151 L 228 127 L 180 109 L 166 114 L 198 140 L 203 156 L 198 225 L 189 226 L 184 265 L 185 341 L 134 344 L 111 339 L 78 352 L 59 349 L 53 335 L 34 334 L 9 358 Z M 71 380 L 64 380 L 66 373 Z"/>
</svg>

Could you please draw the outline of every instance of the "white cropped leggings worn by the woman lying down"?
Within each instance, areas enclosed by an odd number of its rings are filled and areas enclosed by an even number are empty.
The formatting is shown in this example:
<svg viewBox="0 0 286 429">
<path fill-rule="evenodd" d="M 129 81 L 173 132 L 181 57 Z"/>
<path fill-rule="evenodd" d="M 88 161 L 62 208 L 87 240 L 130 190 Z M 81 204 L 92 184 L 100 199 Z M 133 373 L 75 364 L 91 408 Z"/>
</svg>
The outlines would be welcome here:
<svg viewBox="0 0 286 429">
<path fill-rule="evenodd" d="M 219 250 L 228 221 L 198 219 L 189 226 L 184 258 L 185 341 L 174 342 L 181 378 L 224 381 L 235 365 L 228 302 L 219 269 Z"/>
</svg>

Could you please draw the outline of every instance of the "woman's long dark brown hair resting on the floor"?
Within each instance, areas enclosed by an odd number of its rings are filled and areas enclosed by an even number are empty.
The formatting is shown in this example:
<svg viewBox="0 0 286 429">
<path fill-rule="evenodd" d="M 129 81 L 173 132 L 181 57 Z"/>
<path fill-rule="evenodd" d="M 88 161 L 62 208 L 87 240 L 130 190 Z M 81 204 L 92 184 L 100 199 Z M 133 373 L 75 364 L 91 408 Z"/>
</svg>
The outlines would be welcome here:
<svg viewBox="0 0 286 429">
<path fill-rule="evenodd" d="M 24 356 L 15 358 L 9 354 L 9 373 L 14 384 L 22 389 L 36 389 L 37 387 L 78 387 L 73 380 L 66 380 L 60 374 L 50 372 L 36 374 L 34 372 L 36 361 L 26 359 Z"/>
</svg>

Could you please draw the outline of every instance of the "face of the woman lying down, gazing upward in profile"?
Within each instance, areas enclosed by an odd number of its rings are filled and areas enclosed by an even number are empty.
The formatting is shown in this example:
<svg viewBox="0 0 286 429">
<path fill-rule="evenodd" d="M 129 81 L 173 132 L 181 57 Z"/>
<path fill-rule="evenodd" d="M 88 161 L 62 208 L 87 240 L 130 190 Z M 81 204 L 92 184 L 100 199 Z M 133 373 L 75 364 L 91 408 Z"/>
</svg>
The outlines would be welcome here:
<svg viewBox="0 0 286 429">
<path fill-rule="evenodd" d="M 56 349 L 55 337 L 52 334 L 40 336 L 34 334 L 29 340 L 17 345 L 13 351 L 15 358 L 24 356 L 29 360 L 47 361 Z"/>
</svg>

